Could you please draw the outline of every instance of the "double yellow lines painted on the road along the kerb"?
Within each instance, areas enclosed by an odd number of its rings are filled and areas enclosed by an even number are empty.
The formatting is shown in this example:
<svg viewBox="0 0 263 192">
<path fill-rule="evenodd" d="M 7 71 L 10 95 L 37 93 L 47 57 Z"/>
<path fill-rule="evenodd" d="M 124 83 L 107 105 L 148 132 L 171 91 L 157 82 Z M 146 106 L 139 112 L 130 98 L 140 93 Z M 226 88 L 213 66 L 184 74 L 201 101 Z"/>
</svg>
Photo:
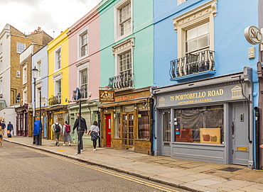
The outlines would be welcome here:
<svg viewBox="0 0 263 192">
<path fill-rule="evenodd" d="M 61 160 L 65 161 L 65 162 L 70 162 L 70 163 L 77 164 L 77 165 L 80 165 L 80 166 L 85 166 L 87 168 L 103 172 L 105 174 L 110 174 L 112 176 L 117 176 L 117 177 L 122 178 L 122 179 L 133 181 L 135 183 L 140 183 L 140 184 L 142 184 L 144 186 L 150 186 L 152 188 L 158 188 L 160 190 L 168 191 L 168 192 L 179 192 L 179 191 L 176 191 L 176 190 L 173 190 L 173 189 L 170 189 L 170 188 L 166 188 L 166 187 L 163 187 L 163 186 L 156 185 L 154 183 L 149 183 L 149 182 L 146 182 L 146 181 L 142 181 L 141 179 L 134 179 L 131 176 L 124 176 L 122 174 L 115 173 L 115 172 L 109 171 L 109 170 L 105 170 L 105 169 L 102 169 L 102 168 L 97 167 L 97 166 L 92 166 L 92 165 L 89 165 L 87 163 L 78 162 L 77 159 L 69 159 L 69 157 L 63 157 L 63 156 L 60 157 L 60 155 L 58 155 L 58 154 L 52 154 L 52 153 L 49 153 L 49 152 L 42 152 L 42 151 L 39 151 L 38 149 L 33 149 L 33 148 L 30 148 L 30 147 L 23 147 L 23 148 L 28 149 L 28 150 L 32 150 L 34 152 L 38 152 L 38 153 L 41 153 L 41 154 L 48 155 L 50 157 L 55 157 L 57 159 L 61 159 Z"/>
</svg>

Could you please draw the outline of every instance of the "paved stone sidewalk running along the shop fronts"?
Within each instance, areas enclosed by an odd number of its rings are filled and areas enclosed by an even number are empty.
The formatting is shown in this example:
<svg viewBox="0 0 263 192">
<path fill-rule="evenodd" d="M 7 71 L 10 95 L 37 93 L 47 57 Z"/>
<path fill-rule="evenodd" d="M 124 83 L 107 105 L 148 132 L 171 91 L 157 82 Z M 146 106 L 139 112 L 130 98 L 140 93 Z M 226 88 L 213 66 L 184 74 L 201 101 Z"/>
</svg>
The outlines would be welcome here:
<svg viewBox="0 0 263 192">
<path fill-rule="evenodd" d="M 33 145 L 32 137 L 4 137 L 4 142 L 43 149 L 191 191 L 263 192 L 263 171 L 251 170 L 247 166 L 213 164 L 164 156 L 154 157 L 109 148 L 97 148 L 97 151 L 93 151 L 90 146 L 85 146 L 81 154 L 75 155 L 76 144 L 63 146 L 63 142 L 60 142 L 60 147 L 56 147 L 55 141 L 43 139 L 42 145 Z"/>
</svg>

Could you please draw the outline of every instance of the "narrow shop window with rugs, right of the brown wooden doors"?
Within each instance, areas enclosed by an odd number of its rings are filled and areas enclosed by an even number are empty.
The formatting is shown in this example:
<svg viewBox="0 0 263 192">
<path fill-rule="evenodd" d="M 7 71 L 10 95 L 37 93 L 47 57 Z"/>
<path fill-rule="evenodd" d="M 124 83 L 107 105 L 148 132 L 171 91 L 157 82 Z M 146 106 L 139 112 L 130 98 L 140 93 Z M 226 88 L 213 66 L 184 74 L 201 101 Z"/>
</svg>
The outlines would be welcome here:
<svg viewBox="0 0 263 192">
<path fill-rule="evenodd" d="M 138 112 L 138 138 L 141 140 L 149 140 L 150 138 L 150 120 L 149 111 Z"/>
</svg>

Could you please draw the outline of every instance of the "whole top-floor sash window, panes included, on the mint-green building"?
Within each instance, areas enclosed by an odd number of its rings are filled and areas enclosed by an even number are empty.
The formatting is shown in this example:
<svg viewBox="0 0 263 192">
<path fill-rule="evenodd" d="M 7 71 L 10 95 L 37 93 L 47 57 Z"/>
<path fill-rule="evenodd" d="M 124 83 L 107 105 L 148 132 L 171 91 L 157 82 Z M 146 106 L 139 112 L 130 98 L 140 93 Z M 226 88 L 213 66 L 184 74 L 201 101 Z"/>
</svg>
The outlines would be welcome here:
<svg viewBox="0 0 263 192">
<path fill-rule="evenodd" d="M 128 0 L 120 1 L 115 6 L 116 19 L 115 38 L 124 38 L 132 34 L 132 2 Z"/>
</svg>

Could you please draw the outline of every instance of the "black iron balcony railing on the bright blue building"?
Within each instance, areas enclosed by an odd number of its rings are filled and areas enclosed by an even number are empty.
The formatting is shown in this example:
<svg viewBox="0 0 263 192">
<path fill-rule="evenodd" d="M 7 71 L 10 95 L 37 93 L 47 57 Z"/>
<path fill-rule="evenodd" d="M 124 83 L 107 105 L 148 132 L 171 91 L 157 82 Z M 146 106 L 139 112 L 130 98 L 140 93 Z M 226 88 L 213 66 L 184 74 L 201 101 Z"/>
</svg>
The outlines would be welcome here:
<svg viewBox="0 0 263 192">
<path fill-rule="evenodd" d="M 173 79 L 205 71 L 215 71 L 214 51 L 189 53 L 185 57 L 172 60 L 170 77 Z"/>
</svg>

